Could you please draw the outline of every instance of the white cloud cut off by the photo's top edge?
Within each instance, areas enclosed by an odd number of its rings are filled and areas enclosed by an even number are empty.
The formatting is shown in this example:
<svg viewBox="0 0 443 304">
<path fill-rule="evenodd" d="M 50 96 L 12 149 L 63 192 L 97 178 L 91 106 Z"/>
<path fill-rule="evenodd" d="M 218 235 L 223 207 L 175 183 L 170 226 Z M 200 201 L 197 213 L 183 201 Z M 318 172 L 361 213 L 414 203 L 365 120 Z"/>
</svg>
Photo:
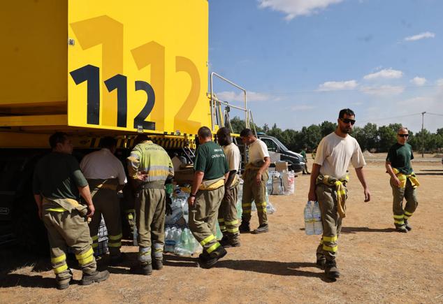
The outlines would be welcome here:
<svg viewBox="0 0 443 304">
<path fill-rule="evenodd" d="M 259 0 L 260 8 L 271 8 L 286 14 L 284 19 L 292 20 L 297 16 L 309 16 L 318 13 L 331 4 L 343 0 Z"/>
</svg>

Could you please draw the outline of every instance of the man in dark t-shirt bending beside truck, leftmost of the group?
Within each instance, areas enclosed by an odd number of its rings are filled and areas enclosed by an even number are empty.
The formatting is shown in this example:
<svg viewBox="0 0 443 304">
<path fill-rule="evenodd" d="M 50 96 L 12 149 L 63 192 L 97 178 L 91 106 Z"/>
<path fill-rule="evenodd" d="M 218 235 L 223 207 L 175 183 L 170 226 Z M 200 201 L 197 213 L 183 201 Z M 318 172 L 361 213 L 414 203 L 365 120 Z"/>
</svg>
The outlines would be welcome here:
<svg viewBox="0 0 443 304">
<path fill-rule="evenodd" d="M 48 229 L 51 264 L 57 289 L 66 289 L 72 278 L 66 264 L 66 249 L 71 247 L 82 268 L 80 284 L 89 285 L 109 277 L 108 270 L 97 271 L 87 217 L 94 215 L 89 186 L 71 155 L 73 145 L 66 133 L 57 132 L 49 138 L 52 152 L 38 161 L 33 180 L 38 216 Z M 86 205 L 80 205 L 80 195 Z M 89 209 L 89 210 L 88 210 Z"/>
</svg>

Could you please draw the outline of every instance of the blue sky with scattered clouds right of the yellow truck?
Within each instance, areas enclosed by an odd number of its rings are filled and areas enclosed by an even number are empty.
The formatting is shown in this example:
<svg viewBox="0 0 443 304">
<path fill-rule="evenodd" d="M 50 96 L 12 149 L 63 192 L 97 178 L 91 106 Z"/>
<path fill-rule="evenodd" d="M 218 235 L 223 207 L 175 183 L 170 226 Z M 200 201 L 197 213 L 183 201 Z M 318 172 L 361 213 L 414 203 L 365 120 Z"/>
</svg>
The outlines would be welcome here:
<svg viewBox="0 0 443 304">
<path fill-rule="evenodd" d="M 443 1 L 209 0 L 209 67 L 247 89 L 256 124 L 443 127 Z M 219 99 L 240 91 L 214 82 Z M 240 114 L 240 113 L 237 113 Z M 235 115 L 232 112 L 231 115 Z M 393 118 L 395 117 L 395 118 Z"/>
</svg>

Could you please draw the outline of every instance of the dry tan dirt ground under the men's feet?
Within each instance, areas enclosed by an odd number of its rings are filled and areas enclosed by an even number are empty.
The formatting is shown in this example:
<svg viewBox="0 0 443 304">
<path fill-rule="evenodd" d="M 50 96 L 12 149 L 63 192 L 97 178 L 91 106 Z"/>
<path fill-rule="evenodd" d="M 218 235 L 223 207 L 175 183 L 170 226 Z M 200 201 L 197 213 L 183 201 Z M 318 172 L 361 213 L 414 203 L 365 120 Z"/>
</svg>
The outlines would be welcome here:
<svg viewBox="0 0 443 304">
<path fill-rule="evenodd" d="M 337 258 L 342 276 L 336 282 L 326 280 L 315 267 L 319 236 L 303 231 L 309 176 L 298 175 L 296 194 L 270 196 L 277 208 L 268 217 L 270 232 L 242 234 L 241 247 L 228 249 L 215 268 L 198 268 L 193 257 L 166 255 L 164 269 L 149 277 L 129 275 L 126 263 L 108 267 L 111 276 L 106 282 L 88 287 L 74 282 L 57 291 L 48 261 L 3 250 L 0 303 L 443 303 L 440 159 L 417 157 L 413 162 L 421 186 L 408 233 L 393 229 L 391 188 L 382 157 L 367 161 L 370 203 L 363 202 L 363 189 L 350 168 Z M 254 213 L 252 225 L 257 226 Z M 137 247 L 124 246 L 124 251 L 135 261 Z M 105 268 L 106 258 L 99 264 Z M 74 270 L 74 278 L 80 280 L 80 270 Z"/>
</svg>

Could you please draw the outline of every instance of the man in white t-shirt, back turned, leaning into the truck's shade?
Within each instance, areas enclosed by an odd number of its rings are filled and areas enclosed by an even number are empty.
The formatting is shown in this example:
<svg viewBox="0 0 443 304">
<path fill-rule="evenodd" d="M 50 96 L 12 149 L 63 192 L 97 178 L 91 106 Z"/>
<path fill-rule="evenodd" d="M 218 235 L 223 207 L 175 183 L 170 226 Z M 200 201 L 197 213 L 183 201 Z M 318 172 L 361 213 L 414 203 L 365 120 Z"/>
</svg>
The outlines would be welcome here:
<svg viewBox="0 0 443 304">
<path fill-rule="evenodd" d="M 114 156 L 117 150 L 117 140 L 105 137 L 101 140 L 102 149 L 83 157 L 80 162 L 85 178 L 91 189 L 95 212 L 89 223 L 92 238 L 92 249 L 96 251 L 99 246 L 99 228 L 101 215 L 105 219 L 108 230 L 108 248 L 110 264 L 112 266 L 122 262 L 122 219 L 120 216 L 120 202 L 117 191 L 126 184 L 126 174 L 123 164 Z"/>
</svg>

